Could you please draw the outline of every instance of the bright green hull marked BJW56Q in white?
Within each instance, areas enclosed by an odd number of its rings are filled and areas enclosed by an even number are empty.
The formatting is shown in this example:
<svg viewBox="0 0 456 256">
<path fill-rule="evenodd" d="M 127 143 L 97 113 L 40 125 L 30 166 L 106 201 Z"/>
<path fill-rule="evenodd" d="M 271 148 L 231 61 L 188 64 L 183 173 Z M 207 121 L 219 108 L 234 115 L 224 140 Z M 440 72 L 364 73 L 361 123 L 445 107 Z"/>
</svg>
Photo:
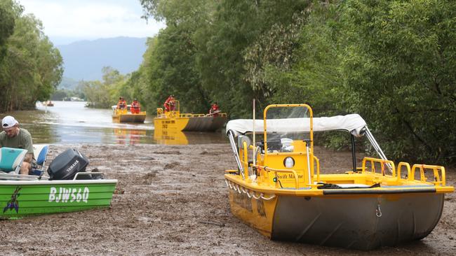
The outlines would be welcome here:
<svg viewBox="0 0 456 256">
<path fill-rule="evenodd" d="M 117 180 L 0 180 L 0 219 L 85 211 L 111 204 Z"/>
</svg>

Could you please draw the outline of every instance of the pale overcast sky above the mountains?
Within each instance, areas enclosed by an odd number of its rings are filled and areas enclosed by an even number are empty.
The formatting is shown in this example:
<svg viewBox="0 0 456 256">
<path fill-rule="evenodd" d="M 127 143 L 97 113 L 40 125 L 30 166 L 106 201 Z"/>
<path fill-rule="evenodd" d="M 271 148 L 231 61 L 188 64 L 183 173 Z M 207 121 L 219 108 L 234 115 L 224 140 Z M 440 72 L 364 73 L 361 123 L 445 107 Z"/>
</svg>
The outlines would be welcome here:
<svg viewBox="0 0 456 256">
<path fill-rule="evenodd" d="M 19 0 L 55 45 L 116 36 L 154 36 L 164 24 L 141 19 L 139 0 Z"/>
</svg>

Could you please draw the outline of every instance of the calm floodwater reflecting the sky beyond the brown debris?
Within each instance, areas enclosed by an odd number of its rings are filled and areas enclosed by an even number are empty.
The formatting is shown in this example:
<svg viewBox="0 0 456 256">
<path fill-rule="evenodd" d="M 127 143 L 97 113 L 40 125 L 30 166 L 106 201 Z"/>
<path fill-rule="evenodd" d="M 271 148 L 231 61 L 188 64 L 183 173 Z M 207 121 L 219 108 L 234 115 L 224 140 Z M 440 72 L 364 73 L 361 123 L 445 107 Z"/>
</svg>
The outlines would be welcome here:
<svg viewBox="0 0 456 256">
<path fill-rule="evenodd" d="M 154 136 L 153 116 L 144 124 L 112 122 L 112 110 L 86 108 L 83 101 L 53 101 L 54 106 L 36 104 L 34 111 L 2 113 L 13 115 L 20 127 L 30 131 L 34 143 L 51 144 L 166 144 L 185 145 L 227 142 L 222 131 L 176 133 Z"/>
</svg>

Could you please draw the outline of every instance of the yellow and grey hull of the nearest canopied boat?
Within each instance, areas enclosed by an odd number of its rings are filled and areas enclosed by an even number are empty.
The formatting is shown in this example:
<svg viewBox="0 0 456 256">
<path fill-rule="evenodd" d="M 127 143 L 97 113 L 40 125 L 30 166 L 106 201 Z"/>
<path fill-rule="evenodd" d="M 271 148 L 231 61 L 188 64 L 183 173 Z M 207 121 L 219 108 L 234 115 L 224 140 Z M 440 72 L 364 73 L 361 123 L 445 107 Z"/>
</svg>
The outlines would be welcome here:
<svg viewBox="0 0 456 256">
<path fill-rule="evenodd" d="M 426 237 L 440 220 L 444 201 L 444 194 L 435 192 L 391 191 L 317 197 L 277 194 L 264 200 L 248 197 L 260 191 L 233 187 L 238 188 L 229 190 L 233 215 L 270 239 L 357 250 Z"/>
</svg>

